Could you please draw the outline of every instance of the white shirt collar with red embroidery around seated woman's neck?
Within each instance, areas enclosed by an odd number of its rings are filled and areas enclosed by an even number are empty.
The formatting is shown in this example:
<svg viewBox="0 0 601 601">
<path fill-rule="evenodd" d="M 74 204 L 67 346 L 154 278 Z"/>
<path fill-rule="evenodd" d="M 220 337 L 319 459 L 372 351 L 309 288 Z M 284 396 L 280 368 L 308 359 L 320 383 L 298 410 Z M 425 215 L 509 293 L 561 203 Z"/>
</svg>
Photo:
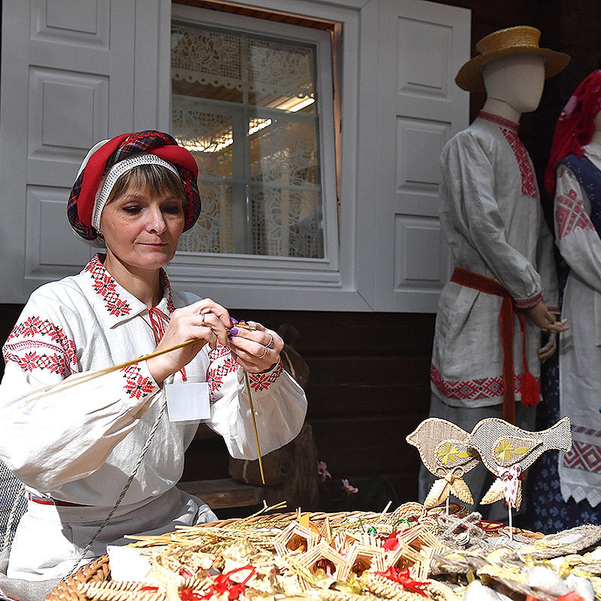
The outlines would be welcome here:
<svg viewBox="0 0 601 601">
<path fill-rule="evenodd" d="M 112 328 L 117 323 L 147 312 L 147 307 L 115 281 L 105 269 L 104 258 L 105 255 L 94 255 L 81 273 L 90 278 L 93 302 L 102 304 L 104 311 L 101 314 L 106 317 L 109 327 Z M 171 314 L 175 307 L 171 296 L 171 284 L 164 269 L 160 269 L 160 281 L 163 285 L 163 298 L 157 307 Z"/>
</svg>

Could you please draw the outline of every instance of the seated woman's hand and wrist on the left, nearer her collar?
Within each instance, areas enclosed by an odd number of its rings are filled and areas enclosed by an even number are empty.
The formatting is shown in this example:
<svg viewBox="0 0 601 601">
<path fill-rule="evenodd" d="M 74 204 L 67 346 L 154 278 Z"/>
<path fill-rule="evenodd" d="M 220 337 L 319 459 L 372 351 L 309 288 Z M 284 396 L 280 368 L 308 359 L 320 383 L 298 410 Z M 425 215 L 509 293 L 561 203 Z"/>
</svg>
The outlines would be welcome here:
<svg viewBox="0 0 601 601">
<path fill-rule="evenodd" d="M 170 349 L 188 340 L 197 342 L 147 359 L 146 364 L 154 381 L 162 385 L 166 377 L 188 365 L 207 343 L 212 349 L 215 349 L 217 343 L 227 345 L 227 328 L 230 325 L 227 309 L 211 299 L 176 309 L 155 350 Z"/>
</svg>

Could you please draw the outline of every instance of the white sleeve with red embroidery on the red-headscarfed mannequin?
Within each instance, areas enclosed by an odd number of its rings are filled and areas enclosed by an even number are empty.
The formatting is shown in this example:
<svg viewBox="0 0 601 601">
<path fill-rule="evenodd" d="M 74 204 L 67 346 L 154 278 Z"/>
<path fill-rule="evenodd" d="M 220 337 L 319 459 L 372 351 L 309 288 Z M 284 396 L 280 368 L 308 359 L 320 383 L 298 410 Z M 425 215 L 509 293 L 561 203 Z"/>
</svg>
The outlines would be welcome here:
<svg viewBox="0 0 601 601">
<path fill-rule="evenodd" d="M 560 165 L 554 203 L 557 245 L 570 269 L 601 292 L 601 239 L 589 213 L 586 192 L 572 171 Z"/>
</svg>

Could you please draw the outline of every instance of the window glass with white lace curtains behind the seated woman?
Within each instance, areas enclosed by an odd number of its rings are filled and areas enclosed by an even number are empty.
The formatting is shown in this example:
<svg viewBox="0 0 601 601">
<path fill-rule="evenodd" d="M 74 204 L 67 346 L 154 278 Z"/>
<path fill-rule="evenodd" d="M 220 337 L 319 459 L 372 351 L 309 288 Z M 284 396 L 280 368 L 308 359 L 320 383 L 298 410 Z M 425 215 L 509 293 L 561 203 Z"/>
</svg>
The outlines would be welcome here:
<svg viewBox="0 0 601 601">
<path fill-rule="evenodd" d="M 323 257 L 314 47 L 178 23 L 171 41 L 172 129 L 203 203 L 178 249 Z"/>
</svg>

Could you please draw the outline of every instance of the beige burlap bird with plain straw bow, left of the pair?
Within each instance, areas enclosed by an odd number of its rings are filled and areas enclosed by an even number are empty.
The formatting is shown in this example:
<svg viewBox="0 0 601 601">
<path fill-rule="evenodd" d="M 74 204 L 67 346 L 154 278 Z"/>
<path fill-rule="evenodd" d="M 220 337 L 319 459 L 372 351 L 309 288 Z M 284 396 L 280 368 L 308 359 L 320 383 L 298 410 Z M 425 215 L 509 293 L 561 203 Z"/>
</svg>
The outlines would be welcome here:
<svg viewBox="0 0 601 601">
<path fill-rule="evenodd" d="M 436 417 L 425 419 L 407 436 L 406 441 L 417 447 L 424 466 L 439 478 L 432 484 L 424 507 L 444 503 L 451 493 L 465 503 L 474 502 L 463 475 L 480 463 L 480 457 L 466 446 L 468 436 L 459 426 Z"/>
</svg>

